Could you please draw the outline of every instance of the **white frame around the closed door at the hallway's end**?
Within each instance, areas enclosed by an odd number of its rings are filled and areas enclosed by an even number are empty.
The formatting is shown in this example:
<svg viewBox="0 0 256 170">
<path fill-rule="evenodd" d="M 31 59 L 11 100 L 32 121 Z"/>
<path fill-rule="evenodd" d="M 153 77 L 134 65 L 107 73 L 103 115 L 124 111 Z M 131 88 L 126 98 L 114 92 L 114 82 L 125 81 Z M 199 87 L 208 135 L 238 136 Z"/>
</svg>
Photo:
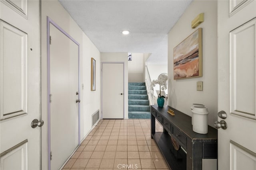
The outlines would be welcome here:
<svg viewBox="0 0 256 170">
<path fill-rule="evenodd" d="M 103 112 L 102 112 L 102 108 L 103 108 L 103 72 L 102 72 L 102 67 L 103 64 L 123 64 L 123 119 L 125 118 L 125 105 L 124 105 L 124 97 L 126 96 L 126 94 L 124 93 L 124 62 L 111 62 L 111 61 L 104 61 L 104 62 L 100 62 L 100 108 L 101 108 L 101 112 L 100 112 L 100 119 L 103 119 Z"/>
</svg>

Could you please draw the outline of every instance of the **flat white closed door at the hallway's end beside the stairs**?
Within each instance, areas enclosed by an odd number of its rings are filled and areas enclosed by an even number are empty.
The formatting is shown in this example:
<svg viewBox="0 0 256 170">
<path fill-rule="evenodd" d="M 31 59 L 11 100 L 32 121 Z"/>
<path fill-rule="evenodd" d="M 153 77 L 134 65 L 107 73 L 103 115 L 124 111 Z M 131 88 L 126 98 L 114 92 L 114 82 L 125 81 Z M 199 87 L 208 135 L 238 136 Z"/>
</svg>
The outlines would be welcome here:
<svg viewBox="0 0 256 170">
<path fill-rule="evenodd" d="M 124 64 L 102 63 L 103 119 L 124 118 Z"/>
</svg>

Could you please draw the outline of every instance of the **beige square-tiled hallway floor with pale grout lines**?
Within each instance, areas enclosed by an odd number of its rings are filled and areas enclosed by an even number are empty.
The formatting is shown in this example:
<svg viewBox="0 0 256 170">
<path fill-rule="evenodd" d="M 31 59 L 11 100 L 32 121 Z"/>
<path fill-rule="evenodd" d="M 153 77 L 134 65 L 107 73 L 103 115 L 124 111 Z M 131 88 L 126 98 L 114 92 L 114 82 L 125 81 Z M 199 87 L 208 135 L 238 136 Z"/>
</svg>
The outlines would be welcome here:
<svg viewBox="0 0 256 170">
<path fill-rule="evenodd" d="M 156 131 L 162 131 L 156 123 Z M 150 137 L 150 119 L 103 119 L 63 170 L 168 170 Z"/>
</svg>

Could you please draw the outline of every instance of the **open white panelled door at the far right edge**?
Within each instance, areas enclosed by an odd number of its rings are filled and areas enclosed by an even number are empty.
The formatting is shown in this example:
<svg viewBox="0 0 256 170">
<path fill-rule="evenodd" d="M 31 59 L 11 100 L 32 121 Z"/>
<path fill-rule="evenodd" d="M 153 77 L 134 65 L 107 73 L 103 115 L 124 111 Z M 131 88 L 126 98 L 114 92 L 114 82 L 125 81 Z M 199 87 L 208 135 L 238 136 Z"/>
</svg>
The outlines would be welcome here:
<svg viewBox="0 0 256 170">
<path fill-rule="evenodd" d="M 256 1 L 218 1 L 218 170 L 256 170 Z"/>
</svg>

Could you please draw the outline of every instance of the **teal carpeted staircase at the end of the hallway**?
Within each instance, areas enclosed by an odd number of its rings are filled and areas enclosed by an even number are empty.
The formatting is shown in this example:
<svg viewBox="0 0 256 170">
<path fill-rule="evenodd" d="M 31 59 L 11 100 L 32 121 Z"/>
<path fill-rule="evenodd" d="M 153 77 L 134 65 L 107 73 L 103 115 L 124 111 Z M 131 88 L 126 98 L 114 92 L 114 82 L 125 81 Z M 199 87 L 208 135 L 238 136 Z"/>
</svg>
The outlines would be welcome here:
<svg viewBox="0 0 256 170">
<path fill-rule="evenodd" d="M 145 83 L 128 83 L 129 119 L 150 119 L 150 106 Z"/>
</svg>

